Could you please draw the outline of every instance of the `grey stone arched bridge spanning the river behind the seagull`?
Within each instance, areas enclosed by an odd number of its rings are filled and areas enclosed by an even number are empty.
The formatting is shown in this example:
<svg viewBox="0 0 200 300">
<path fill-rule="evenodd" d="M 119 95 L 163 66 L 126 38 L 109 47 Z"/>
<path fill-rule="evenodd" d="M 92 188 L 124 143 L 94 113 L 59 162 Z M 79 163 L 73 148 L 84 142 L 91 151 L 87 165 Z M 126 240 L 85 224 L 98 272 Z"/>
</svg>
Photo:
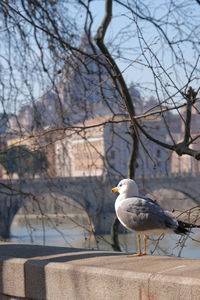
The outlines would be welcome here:
<svg viewBox="0 0 200 300">
<path fill-rule="evenodd" d="M 69 197 L 85 209 L 95 233 L 110 232 L 114 218 L 116 195 L 110 191 L 121 178 L 109 177 L 54 177 L 0 181 L 0 236 L 8 238 L 14 216 L 24 201 L 39 201 L 43 195 Z M 142 195 L 168 189 L 185 194 L 195 203 L 200 203 L 200 174 L 192 176 L 138 177 L 136 182 Z M 172 207 L 173 208 L 173 207 Z"/>
</svg>

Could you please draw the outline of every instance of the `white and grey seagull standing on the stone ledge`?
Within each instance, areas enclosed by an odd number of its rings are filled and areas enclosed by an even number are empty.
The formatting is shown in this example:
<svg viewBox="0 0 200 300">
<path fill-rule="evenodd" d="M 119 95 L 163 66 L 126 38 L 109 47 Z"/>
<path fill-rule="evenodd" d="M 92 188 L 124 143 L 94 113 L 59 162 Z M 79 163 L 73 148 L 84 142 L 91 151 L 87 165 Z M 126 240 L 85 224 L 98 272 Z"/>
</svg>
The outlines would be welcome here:
<svg viewBox="0 0 200 300">
<path fill-rule="evenodd" d="M 188 228 L 200 227 L 177 220 L 169 211 L 164 210 L 156 201 L 139 196 L 138 186 L 132 179 L 121 180 L 112 192 L 118 192 L 115 211 L 120 223 L 130 231 L 136 232 L 138 252 L 128 257 L 146 255 L 147 235 L 176 233 L 188 234 Z M 140 235 L 144 235 L 144 251 L 141 250 Z"/>
</svg>

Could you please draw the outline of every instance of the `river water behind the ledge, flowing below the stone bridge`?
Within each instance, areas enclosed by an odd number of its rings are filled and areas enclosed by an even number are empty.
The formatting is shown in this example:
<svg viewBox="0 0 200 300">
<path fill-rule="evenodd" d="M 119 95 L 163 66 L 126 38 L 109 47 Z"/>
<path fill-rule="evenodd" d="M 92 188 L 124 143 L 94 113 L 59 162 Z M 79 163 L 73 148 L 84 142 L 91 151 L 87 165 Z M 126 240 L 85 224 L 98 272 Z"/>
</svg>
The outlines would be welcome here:
<svg viewBox="0 0 200 300">
<path fill-rule="evenodd" d="M 78 220 L 78 221 L 77 221 Z M 81 224 L 82 223 L 82 224 Z M 94 237 L 87 231 L 85 221 L 75 217 L 61 222 L 51 223 L 38 219 L 26 220 L 18 218 L 11 227 L 11 241 L 24 244 L 40 244 L 77 248 L 112 250 L 110 235 Z M 193 229 L 189 237 L 165 235 L 150 237 L 148 253 L 155 255 L 175 255 L 181 257 L 200 258 L 200 229 Z M 137 249 L 134 233 L 119 235 L 123 251 L 135 252 Z"/>
</svg>

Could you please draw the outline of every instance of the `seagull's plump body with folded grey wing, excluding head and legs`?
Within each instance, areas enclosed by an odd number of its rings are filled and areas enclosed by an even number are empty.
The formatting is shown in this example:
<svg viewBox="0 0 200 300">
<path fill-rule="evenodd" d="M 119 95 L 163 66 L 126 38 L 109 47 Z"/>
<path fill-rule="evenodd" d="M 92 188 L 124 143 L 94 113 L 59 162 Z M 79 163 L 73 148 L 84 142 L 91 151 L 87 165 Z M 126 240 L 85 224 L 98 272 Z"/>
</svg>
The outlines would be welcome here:
<svg viewBox="0 0 200 300">
<path fill-rule="evenodd" d="M 165 232 L 175 230 L 178 226 L 176 218 L 153 200 L 144 197 L 127 198 L 121 201 L 117 215 L 130 230 L 147 232 Z"/>
</svg>

